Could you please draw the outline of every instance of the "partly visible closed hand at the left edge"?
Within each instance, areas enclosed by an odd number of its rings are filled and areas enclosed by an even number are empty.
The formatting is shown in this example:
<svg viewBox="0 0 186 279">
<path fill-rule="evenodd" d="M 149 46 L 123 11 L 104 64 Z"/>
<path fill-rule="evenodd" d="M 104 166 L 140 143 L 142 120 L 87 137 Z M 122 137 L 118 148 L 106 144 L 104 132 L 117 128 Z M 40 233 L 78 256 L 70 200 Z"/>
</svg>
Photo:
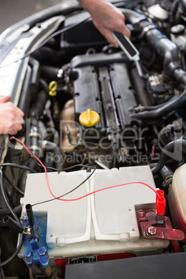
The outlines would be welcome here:
<svg viewBox="0 0 186 279">
<path fill-rule="evenodd" d="M 10 101 L 10 96 L 0 97 L 0 134 L 15 135 L 22 130 L 24 112 Z"/>
</svg>

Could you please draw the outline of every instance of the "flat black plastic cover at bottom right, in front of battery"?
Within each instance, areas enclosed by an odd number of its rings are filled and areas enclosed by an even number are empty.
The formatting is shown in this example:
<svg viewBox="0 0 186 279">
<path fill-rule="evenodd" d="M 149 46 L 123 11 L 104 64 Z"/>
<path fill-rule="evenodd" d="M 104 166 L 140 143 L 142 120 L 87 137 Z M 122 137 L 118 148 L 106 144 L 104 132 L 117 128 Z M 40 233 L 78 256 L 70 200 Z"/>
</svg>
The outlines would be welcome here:
<svg viewBox="0 0 186 279">
<path fill-rule="evenodd" d="M 186 253 L 133 257 L 66 266 L 65 279 L 183 279 Z"/>
</svg>

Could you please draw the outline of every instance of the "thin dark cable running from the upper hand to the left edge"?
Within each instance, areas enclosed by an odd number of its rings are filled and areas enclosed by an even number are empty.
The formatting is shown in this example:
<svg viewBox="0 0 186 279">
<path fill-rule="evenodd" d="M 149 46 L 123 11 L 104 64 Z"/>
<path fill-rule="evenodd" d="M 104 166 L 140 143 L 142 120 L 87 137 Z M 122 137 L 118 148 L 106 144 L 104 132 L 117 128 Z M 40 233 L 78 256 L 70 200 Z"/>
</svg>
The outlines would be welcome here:
<svg viewBox="0 0 186 279">
<path fill-rule="evenodd" d="M 75 23 L 75 24 L 71 24 L 70 26 L 67 26 L 65 28 L 62 28 L 58 31 L 56 31 L 55 33 L 51 34 L 49 37 L 47 37 L 47 39 L 45 39 L 43 42 L 41 42 L 35 49 L 31 50 L 31 51 L 28 51 L 27 53 L 24 54 L 24 56 L 22 56 L 21 58 L 15 60 L 15 61 L 12 61 L 6 65 L 4 65 L 3 67 L 6 67 L 6 66 L 9 66 L 9 65 L 12 65 L 13 63 L 15 62 L 18 62 L 19 60 L 22 60 L 28 56 L 31 56 L 31 54 L 33 54 L 35 51 L 37 51 L 38 49 L 40 49 L 41 47 L 44 46 L 44 44 L 47 44 L 47 42 L 49 42 L 53 37 L 56 37 L 57 35 L 60 35 L 68 30 L 70 30 L 71 28 L 74 28 L 76 26 L 78 26 L 79 24 L 82 24 L 83 22 L 86 22 L 88 19 L 90 19 L 90 16 L 87 17 L 86 19 L 83 19 L 81 22 L 78 22 L 78 23 Z M 0 66 L 0 68 L 3 68 Z"/>
</svg>

